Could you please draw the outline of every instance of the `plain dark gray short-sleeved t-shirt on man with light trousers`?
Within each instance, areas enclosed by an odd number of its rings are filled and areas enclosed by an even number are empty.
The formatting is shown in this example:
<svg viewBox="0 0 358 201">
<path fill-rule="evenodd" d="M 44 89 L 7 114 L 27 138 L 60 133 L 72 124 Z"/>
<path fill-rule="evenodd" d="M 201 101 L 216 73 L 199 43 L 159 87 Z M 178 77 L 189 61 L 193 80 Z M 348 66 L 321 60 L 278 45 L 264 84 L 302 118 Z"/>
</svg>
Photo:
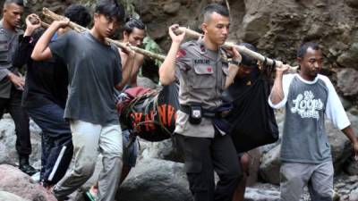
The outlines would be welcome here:
<svg viewBox="0 0 358 201">
<path fill-rule="evenodd" d="M 122 80 L 121 58 L 114 45 L 106 45 L 89 31 L 70 31 L 50 45 L 52 54 L 67 64 L 69 90 L 64 118 L 94 124 L 119 124 L 115 85 Z"/>
</svg>

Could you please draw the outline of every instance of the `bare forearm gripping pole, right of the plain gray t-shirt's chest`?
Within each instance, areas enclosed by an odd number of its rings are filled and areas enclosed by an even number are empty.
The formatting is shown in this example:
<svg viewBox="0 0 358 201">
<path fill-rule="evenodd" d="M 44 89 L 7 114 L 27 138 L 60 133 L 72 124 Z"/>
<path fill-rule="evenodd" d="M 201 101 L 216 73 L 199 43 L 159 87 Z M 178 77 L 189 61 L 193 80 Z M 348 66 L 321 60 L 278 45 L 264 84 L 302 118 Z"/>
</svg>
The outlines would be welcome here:
<svg viewBox="0 0 358 201">
<path fill-rule="evenodd" d="M 122 80 L 115 86 L 118 90 L 122 90 L 127 84 L 132 74 L 132 65 L 134 63 L 134 52 L 132 50 L 125 49 L 125 53 L 120 54 L 122 60 Z M 121 53 L 121 51 L 120 51 Z M 123 55 L 125 54 L 125 56 Z"/>
</svg>

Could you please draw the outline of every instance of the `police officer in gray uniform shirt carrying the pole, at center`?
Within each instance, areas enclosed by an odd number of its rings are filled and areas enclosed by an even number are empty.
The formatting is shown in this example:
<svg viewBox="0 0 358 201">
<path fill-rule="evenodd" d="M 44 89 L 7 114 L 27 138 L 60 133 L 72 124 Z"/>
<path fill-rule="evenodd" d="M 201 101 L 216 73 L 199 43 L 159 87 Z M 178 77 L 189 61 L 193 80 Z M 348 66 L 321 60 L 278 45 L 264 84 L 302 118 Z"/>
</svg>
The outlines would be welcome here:
<svg viewBox="0 0 358 201">
<path fill-rule="evenodd" d="M 228 36 L 229 14 L 220 4 L 204 9 L 203 38 L 180 46 L 184 33 L 176 36 L 169 28 L 172 46 L 159 69 L 163 85 L 179 80 L 179 104 L 175 143 L 183 151 L 185 169 L 195 201 L 233 199 L 241 179 L 240 165 L 231 138 L 213 120 L 222 105 L 224 88 L 233 83 L 241 62 L 237 50 L 230 50 L 233 62 L 227 63 L 220 45 Z M 176 57 L 176 58 L 175 58 Z M 219 181 L 215 187 L 214 171 Z"/>
</svg>

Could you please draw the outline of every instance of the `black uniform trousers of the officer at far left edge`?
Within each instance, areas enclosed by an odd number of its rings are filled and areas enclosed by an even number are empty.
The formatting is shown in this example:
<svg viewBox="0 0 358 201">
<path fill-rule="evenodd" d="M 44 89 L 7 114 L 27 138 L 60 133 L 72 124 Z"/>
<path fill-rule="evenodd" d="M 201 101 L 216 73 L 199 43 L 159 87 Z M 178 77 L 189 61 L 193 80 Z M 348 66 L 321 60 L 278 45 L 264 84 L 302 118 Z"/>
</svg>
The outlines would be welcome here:
<svg viewBox="0 0 358 201">
<path fill-rule="evenodd" d="M 22 91 L 14 87 L 11 89 L 10 98 L 0 97 L 0 117 L 5 110 L 13 117 L 16 133 L 16 151 L 21 157 L 29 157 L 31 154 L 29 116 L 21 107 Z"/>
</svg>

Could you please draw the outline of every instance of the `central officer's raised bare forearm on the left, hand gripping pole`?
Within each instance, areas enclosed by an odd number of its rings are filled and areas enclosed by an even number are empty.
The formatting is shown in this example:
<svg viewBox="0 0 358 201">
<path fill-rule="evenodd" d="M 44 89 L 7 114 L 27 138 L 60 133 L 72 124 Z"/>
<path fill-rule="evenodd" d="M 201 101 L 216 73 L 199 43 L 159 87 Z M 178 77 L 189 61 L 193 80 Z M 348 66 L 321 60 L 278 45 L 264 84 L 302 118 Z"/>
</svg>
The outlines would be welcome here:
<svg viewBox="0 0 358 201">
<path fill-rule="evenodd" d="M 172 38 L 172 46 L 170 46 L 168 54 L 164 63 L 159 68 L 159 80 L 162 85 L 169 85 L 175 81 L 175 59 L 179 50 L 180 44 L 183 41 L 185 32 L 176 36 L 173 29 L 176 29 L 179 25 L 175 24 L 169 27 L 169 35 Z"/>
</svg>

